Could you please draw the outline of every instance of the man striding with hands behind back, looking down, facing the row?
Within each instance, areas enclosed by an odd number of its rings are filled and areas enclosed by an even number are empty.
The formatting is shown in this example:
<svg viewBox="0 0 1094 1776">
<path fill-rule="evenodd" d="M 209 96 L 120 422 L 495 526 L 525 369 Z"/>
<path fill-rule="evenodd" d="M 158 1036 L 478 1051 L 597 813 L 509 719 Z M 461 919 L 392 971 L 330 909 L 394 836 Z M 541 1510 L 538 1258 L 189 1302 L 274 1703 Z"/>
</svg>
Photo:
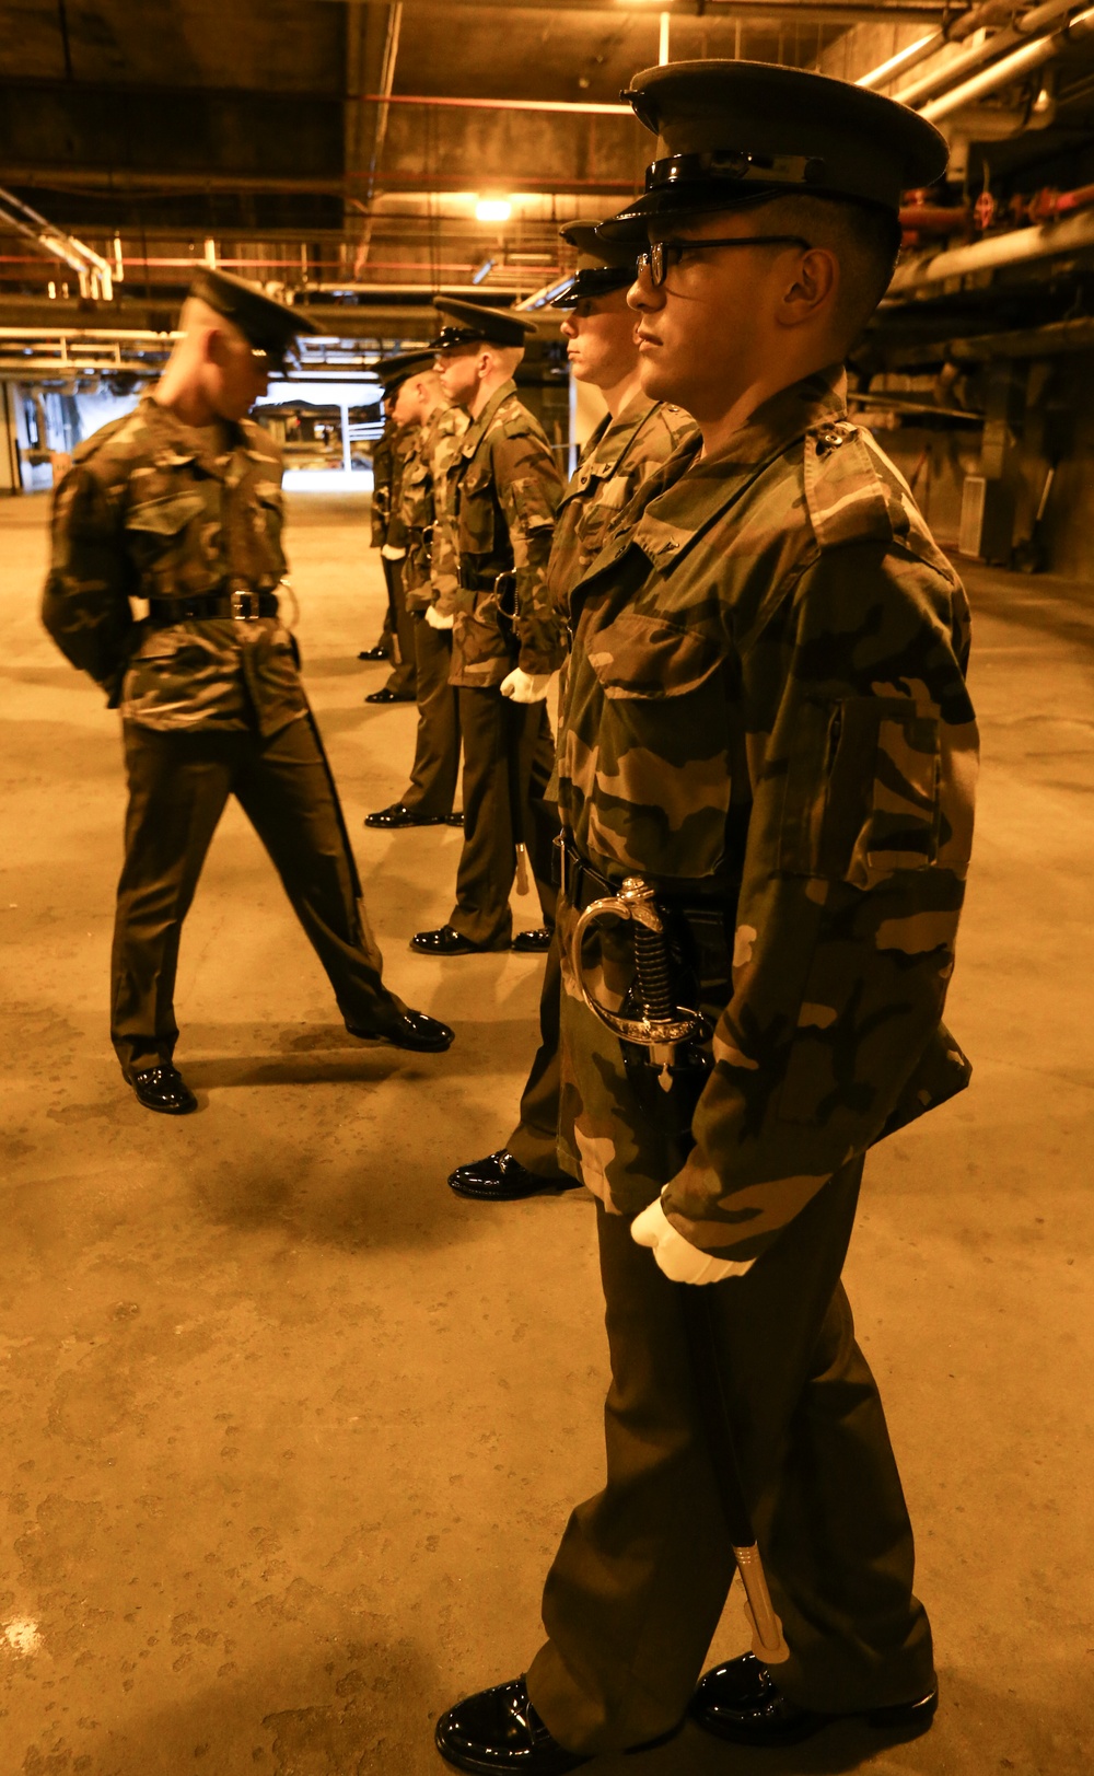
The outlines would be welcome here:
<svg viewBox="0 0 1094 1776">
<path fill-rule="evenodd" d="M 53 508 L 43 620 L 123 718 L 130 806 L 110 1028 L 147 1110 L 195 1099 L 174 1067 L 183 918 L 234 794 L 263 840 L 353 1035 L 442 1050 L 407 1011 L 362 920 L 334 780 L 279 614 L 281 453 L 245 417 L 309 321 L 201 272 L 153 394 L 75 453 Z M 133 618 L 130 599 L 147 600 Z"/>
</svg>

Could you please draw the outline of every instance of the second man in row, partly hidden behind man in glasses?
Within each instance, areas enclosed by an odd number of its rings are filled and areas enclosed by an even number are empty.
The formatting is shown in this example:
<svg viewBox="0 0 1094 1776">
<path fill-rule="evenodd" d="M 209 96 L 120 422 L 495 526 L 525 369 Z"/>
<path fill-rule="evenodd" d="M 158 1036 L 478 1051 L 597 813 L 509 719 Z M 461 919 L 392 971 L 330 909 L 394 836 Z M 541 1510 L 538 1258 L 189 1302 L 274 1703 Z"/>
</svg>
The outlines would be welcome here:
<svg viewBox="0 0 1094 1776">
<path fill-rule="evenodd" d="M 581 451 L 581 462 L 558 508 L 547 591 L 568 616 L 570 588 L 581 579 L 618 526 L 643 481 L 694 432 L 694 421 L 668 401 L 643 392 L 634 311 L 627 288 L 634 281 L 634 249 L 597 240 L 591 222 L 561 229 L 577 249 L 572 282 L 554 298 L 563 309 L 563 337 L 570 375 L 599 389 L 607 412 Z M 462 1197 L 488 1202 L 575 1188 L 577 1179 L 558 1163 L 558 1016 L 561 957 L 558 940 L 547 952 L 540 993 L 540 1048 L 520 1094 L 520 1121 L 504 1147 L 483 1160 L 458 1165 L 449 1185 Z"/>
</svg>

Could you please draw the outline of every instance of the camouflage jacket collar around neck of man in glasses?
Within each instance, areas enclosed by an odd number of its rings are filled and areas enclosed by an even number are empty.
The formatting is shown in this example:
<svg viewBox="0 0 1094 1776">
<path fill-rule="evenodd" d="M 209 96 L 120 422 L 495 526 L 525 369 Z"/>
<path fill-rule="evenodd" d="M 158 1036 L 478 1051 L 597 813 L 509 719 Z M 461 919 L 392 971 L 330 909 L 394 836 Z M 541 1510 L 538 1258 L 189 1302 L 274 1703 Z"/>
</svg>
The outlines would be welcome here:
<svg viewBox="0 0 1094 1776">
<path fill-rule="evenodd" d="M 717 455 L 698 462 L 702 439 L 687 439 L 650 478 L 643 515 L 627 540 L 661 574 L 670 574 L 769 464 L 812 426 L 845 412 L 847 373 L 842 364 L 829 364 L 769 396 Z"/>
</svg>

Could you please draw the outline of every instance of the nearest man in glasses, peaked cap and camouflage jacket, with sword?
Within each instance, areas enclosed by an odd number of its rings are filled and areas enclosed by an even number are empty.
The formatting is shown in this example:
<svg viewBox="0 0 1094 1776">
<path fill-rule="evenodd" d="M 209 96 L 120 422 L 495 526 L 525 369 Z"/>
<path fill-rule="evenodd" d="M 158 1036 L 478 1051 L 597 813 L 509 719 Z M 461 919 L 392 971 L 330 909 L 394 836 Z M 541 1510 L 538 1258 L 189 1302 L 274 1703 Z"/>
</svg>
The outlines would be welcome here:
<svg viewBox="0 0 1094 1776">
<path fill-rule="evenodd" d="M 847 421 L 842 359 L 902 190 L 947 149 L 799 69 L 670 64 L 629 96 L 661 144 L 606 234 L 639 252 L 643 387 L 700 439 L 570 593 L 559 1151 L 599 1199 L 607 1481 L 570 1517 L 527 1677 L 437 1726 L 456 1767 L 527 1776 L 687 1712 L 787 1744 L 833 1717 L 911 1735 L 938 1700 L 840 1270 L 863 1154 L 968 1078 L 939 1021 L 971 844 L 968 606 Z M 691 1041 L 643 1035 L 677 1021 Z M 726 1446 L 785 1632 L 753 1646 L 787 1657 L 696 1689 L 741 1545 Z"/>
</svg>

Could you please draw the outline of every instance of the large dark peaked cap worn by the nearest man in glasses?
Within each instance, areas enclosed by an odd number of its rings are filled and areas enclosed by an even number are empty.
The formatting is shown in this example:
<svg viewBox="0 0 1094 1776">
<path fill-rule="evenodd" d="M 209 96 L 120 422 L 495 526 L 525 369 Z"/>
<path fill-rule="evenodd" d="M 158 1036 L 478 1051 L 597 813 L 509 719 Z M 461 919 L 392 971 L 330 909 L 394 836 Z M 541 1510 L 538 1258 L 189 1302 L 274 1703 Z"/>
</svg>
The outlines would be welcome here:
<svg viewBox="0 0 1094 1776">
<path fill-rule="evenodd" d="M 654 135 L 646 188 L 602 224 L 643 238 L 650 217 L 737 210 L 771 197 L 845 197 L 890 211 L 947 170 L 945 137 L 879 92 L 773 62 L 670 62 L 623 98 Z"/>
</svg>

